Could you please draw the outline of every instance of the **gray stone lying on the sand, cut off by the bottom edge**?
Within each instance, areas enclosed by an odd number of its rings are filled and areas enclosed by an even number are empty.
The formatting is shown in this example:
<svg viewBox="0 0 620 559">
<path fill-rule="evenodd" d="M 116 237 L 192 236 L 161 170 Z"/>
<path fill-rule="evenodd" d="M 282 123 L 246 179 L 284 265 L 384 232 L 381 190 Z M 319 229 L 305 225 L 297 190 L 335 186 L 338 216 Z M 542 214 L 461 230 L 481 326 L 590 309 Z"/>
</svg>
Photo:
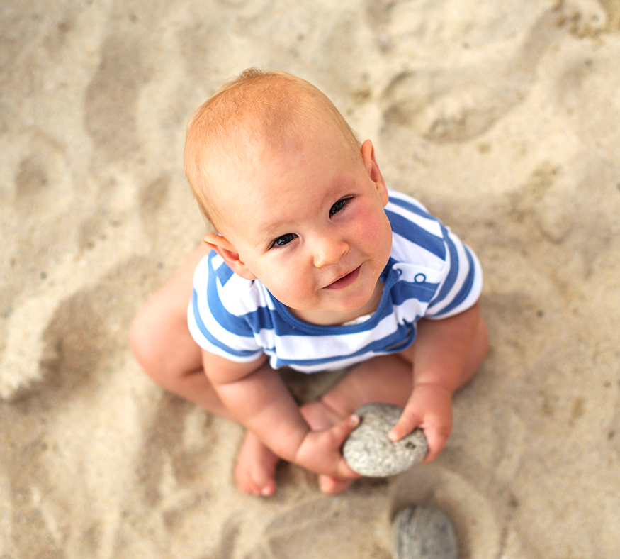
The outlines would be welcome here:
<svg viewBox="0 0 620 559">
<path fill-rule="evenodd" d="M 429 506 L 406 507 L 394 520 L 393 559 L 458 559 L 449 517 Z"/>
</svg>

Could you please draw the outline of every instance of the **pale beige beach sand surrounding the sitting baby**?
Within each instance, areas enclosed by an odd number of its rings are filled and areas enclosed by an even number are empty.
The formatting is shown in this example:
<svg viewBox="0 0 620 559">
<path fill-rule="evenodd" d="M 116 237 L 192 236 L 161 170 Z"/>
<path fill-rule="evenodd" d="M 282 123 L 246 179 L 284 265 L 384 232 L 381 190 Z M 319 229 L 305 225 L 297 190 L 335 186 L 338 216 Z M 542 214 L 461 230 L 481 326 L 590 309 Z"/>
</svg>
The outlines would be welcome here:
<svg viewBox="0 0 620 559">
<path fill-rule="evenodd" d="M 619 1 L 5 0 L 0 18 L 1 559 L 384 559 L 415 502 L 451 514 L 464 559 L 620 556 Z M 271 499 L 239 492 L 242 429 L 128 348 L 204 231 L 188 116 L 252 65 L 323 89 L 485 268 L 492 348 L 446 450 L 338 497 L 290 465 Z"/>
</svg>

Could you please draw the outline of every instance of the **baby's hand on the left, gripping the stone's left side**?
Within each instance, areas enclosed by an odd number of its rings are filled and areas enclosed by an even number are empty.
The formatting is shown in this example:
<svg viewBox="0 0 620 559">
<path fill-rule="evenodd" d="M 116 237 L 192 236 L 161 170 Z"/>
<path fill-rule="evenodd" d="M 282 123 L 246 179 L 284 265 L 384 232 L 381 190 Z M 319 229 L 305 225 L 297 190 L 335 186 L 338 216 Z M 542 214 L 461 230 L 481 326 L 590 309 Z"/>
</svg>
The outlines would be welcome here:
<svg viewBox="0 0 620 559">
<path fill-rule="evenodd" d="M 345 439 L 358 425 L 359 417 L 352 415 L 325 431 L 308 431 L 292 461 L 317 474 L 361 477 L 346 465 L 341 450 Z"/>
</svg>

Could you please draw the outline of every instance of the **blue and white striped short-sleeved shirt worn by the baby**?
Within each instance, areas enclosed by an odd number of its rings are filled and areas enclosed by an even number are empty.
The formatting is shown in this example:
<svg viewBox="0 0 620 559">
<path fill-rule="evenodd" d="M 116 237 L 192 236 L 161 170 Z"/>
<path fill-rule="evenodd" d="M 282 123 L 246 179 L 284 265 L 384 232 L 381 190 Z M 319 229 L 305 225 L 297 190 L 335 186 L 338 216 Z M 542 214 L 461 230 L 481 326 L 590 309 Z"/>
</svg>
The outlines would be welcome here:
<svg viewBox="0 0 620 559">
<path fill-rule="evenodd" d="M 383 295 L 366 320 L 318 326 L 295 317 L 259 280 L 244 280 L 211 251 L 196 267 L 188 326 L 196 343 L 231 361 L 263 353 L 271 367 L 334 370 L 404 350 L 422 317 L 444 319 L 473 306 L 482 289 L 480 262 L 419 201 L 390 190 L 390 259 Z"/>
</svg>

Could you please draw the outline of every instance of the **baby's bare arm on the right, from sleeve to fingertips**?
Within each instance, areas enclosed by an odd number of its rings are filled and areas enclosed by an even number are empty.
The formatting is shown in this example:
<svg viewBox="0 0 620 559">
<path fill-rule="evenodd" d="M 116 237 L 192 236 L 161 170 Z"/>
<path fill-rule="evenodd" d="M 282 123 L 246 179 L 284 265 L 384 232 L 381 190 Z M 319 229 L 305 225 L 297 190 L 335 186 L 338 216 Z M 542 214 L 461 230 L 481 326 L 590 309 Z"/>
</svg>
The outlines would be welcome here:
<svg viewBox="0 0 620 559">
<path fill-rule="evenodd" d="M 415 427 L 424 429 L 429 443 L 424 462 L 444 448 L 452 429 L 452 395 L 473 375 L 485 352 L 486 337 L 478 334 L 479 328 L 485 327 L 478 303 L 448 319 L 418 323 L 410 353 L 413 390 L 389 437 L 398 441 Z M 477 344 L 484 347 L 475 348 Z"/>
</svg>

